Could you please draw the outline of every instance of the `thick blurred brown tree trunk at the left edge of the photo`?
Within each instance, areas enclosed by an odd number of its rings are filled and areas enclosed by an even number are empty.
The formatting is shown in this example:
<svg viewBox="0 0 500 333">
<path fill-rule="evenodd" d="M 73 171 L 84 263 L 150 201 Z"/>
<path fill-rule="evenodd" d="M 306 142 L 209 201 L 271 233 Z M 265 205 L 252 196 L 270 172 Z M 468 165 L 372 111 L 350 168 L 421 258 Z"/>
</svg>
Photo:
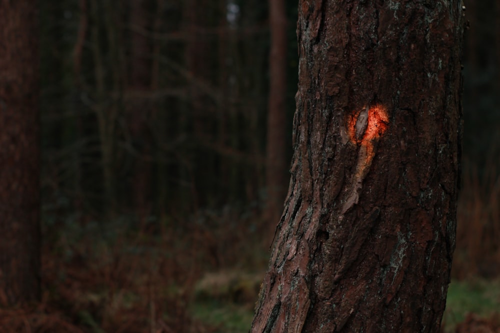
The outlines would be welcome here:
<svg viewBox="0 0 500 333">
<path fill-rule="evenodd" d="M 0 305 L 40 294 L 35 7 L 0 0 Z"/>
</svg>

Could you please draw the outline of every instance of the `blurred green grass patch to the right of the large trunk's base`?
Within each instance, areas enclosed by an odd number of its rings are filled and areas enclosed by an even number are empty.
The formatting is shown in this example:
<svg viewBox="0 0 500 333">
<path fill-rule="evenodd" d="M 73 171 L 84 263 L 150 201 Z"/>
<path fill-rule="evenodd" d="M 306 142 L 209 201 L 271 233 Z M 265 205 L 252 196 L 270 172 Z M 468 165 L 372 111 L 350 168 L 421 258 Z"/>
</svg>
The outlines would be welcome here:
<svg viewBox="0 0 500 333">
<path fill-rule="evenodd" d="M 443 324 L 452 332 L 468 313 L 489 317 L 500 311 L 500 281 L 452 281 L 448 287 Z"/>
</svg>

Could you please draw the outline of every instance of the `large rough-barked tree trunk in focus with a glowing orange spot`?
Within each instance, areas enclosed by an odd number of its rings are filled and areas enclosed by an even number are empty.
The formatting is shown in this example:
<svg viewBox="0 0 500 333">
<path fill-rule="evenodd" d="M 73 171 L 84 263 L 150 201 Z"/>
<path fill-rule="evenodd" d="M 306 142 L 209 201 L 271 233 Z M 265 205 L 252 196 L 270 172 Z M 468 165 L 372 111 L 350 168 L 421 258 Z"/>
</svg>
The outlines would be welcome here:
<svg viewBox="0 0 500 333">
<path fill-rule="evenodd" d="M 458 0 L 300 0 L 291 180 L 251 332 L 439 332 L 460 160 Z"/>
</svg>

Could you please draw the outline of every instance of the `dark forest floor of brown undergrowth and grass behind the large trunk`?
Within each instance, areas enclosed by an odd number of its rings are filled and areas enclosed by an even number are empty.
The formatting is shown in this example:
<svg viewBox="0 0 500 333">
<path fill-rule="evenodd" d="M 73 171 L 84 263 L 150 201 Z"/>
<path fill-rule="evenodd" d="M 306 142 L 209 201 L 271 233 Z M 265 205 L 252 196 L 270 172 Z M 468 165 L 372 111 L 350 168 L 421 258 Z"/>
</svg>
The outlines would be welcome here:
<svg viewBox="0 0 500 333">
<path fill-rule="evenodd" d="M 42 301 L 0 310 L 0 333 L 248 332 L 267 266 L 255 215 L 109 221 L 44 221 Z M 500 333 L 500 280 L 481 269 L 497 264 L 472 265 L 463 235 L 442 331 Z"/>
</svg>

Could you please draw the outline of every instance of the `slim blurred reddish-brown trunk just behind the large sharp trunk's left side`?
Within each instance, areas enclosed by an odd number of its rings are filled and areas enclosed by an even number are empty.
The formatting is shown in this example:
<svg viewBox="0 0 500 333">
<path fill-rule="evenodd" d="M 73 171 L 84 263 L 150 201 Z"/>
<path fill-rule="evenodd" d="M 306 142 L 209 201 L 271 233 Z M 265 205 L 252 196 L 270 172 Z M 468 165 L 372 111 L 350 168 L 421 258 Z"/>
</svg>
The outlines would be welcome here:
<svg viewBox="0 0 500 333">
<path fill-rule="evenodd" d="M 283 209 L 286 191 L 285 95 L 286 16 L 283 0 L 269 0 L 269 104 L 267 114 L 267 228 L 274 230 Z M 271 240 L 269 240 L 270 243 Z"/>
</svg>

